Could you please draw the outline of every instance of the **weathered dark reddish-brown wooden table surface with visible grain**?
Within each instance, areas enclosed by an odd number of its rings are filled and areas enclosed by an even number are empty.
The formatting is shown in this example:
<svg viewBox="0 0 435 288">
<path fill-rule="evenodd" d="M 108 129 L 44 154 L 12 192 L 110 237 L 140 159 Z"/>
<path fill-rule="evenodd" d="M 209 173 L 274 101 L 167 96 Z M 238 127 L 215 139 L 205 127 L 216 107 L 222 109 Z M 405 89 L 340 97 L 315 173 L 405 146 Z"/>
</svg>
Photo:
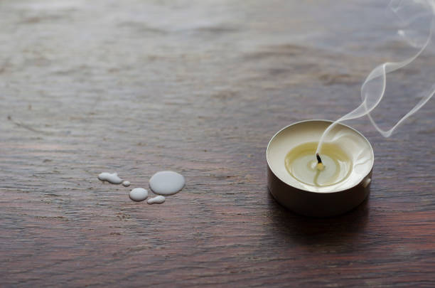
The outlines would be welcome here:
<svg viewBox="0 0 435 288">
<path fill-rule="evenodd" d="M 389 139 L 348 122 L 375 150 L 350 213 L 301 217 L 266 186 L 276 131 L 337 119 L 411 55 L 384 2 L 0 1 L 0 286 L 435 287 L 434 100 Z M 389 78 L 382 127 L 434 64 Z M 166 169 L 181 193 L 129 200 Z"/>
</svg>

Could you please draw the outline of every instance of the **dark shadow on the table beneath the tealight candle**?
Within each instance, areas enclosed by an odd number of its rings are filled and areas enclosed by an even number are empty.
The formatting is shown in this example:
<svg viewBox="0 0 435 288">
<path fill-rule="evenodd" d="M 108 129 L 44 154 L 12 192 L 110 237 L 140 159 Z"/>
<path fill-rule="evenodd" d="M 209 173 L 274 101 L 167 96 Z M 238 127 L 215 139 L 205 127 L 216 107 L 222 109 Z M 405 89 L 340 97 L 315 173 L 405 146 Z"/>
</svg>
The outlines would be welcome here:
<svg viewBox="0 0 435 288">
<path fill-rule="evenodd" d="M 272 233 L 300 244 L 340 245 L 358 241 L 369 220 L 370 196 L 357 208 L 330 218 L 311 218 L 281 206 L 269 194 Z"/>
</svg>

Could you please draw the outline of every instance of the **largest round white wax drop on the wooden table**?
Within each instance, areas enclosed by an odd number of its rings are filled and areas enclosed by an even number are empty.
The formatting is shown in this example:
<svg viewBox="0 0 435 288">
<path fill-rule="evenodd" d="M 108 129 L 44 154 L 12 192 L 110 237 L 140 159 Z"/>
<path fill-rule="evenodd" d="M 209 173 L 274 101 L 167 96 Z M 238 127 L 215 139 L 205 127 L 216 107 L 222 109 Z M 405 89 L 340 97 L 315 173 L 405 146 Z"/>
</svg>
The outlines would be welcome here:
<svg viewBox="0 0 435 288">
<path fill-rule="evenodd" d="M 165 196 L 178 193 L 185 183 L 184 176 L 173 171 L 160 171 L 149 179 L 151 190 Z"/>
</svg>

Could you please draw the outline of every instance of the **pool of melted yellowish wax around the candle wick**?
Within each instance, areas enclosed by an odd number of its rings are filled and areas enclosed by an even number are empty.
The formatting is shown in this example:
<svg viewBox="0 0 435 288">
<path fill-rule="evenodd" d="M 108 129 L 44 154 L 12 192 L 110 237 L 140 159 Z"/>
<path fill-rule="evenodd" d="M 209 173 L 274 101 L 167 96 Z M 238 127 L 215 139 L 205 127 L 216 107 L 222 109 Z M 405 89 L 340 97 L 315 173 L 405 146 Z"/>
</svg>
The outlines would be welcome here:
<svg viewBox="0 0 435 288">
<path fill-rule="evenodd" d="M 289 174 L 298 181 L 311 186 L 329 186 L 343 181 L 352 171 L 352 161 L 340 149 L 331 143 L 322 145 L 321 159 L 323 169 L 319 169 L 316 159 L 316 142 L 308 142 L 291 149 L 285 158 Z"/>
</svg>

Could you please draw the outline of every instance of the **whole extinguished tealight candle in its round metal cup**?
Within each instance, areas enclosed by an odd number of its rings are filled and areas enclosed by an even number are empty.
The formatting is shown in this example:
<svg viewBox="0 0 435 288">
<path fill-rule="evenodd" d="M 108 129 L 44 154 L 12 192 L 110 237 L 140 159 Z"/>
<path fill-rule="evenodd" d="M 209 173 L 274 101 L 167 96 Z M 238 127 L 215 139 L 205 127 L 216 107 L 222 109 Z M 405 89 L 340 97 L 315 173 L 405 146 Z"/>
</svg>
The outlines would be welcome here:
<svg viewBox="0 0 435 288">
<path fill-rule="evenodd" d="M 324 169 L 318 169 L 318 140 L 332 123 L 308 120 L 291 124 L 267 146 L 267 187 L 276 201 L 296 213 L 338 215 L 358 206 L 370 193 L 372 146 L 347 125 L 337 124 L 326 135 L 320 151 Z"/>
</svg>

